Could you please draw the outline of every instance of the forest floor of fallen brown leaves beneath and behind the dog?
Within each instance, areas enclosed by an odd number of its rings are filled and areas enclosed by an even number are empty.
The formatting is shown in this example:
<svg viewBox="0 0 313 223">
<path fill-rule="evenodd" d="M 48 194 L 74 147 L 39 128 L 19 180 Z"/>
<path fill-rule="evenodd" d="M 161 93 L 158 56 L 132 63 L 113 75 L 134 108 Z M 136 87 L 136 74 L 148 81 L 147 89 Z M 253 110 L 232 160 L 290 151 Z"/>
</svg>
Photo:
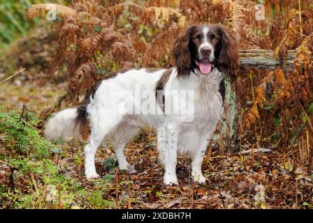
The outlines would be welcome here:
<svg viewBox="0 0 313 223">
<path fill-rule="evenodd" d="M 54 106 L 64 89 L 64 84 L 47 83 L 39 87 L 17 78 L 0 85 L 0 106 L 22 109 L 26 103 L 26 108 L 38 116 L 40 109 Z M 269 148 L 265 153 L 220 154 L 212 148 L 202 165 L 206 185 L 191 182 L 190 160 L 179 157 L 179 186 L 170 187 L 163 185 L 162 167 L 157 162 L 156 140 L 151 130 L 142 131 L 126 148 L 127 160 L 134 164 L 136 174 L 119 171 L 111 146 L 103 144 L 96 158 L 101 178 L 93 182 L 83 176 L 84 142 L 59 142 L 58 153 L 51 153 L 49 159 L 58 174 L 76 180 L 79 188 L 83 188 L 80 189 L 83 192 L 77 194 L 77 187 L 64 190 L 51 183 L 62 193 L 60 199 L 54 196 L 52 201 L 47 193 L 51 185 L 43 179 L 49 173 L 26 176 L 18 168 L 13 169 L 8 164 L 13 154 L 0 144 L 0 157 L 3 157 L 0 208 L 312 208 L 313 174 L 307 165 L 294 162 L 292 152 L 284 156 L 281 151 Z M 38 192 L 41 199 L 30 197 L 26 202 L 26 197 L 33 196 L 34 192 Z M 69 194 L 72 197 L 66 196 Z"/>
</svg>

